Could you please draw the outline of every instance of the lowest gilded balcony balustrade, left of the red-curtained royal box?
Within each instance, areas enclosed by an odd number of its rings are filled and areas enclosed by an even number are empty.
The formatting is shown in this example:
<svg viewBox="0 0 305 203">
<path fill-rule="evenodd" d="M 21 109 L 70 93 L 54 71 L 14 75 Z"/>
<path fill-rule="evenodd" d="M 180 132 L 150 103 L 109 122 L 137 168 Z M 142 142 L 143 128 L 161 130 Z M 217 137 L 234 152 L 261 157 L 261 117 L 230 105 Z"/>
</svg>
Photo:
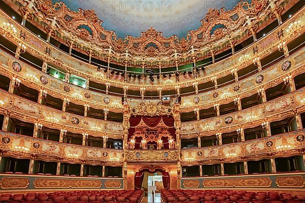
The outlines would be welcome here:
<svg viewBox="0 0 305 203">
<path fill-rule="evenodd" d="M 123 150 L 86 147 L 71 145 L 54 141 L 42 140 L 20 134 L 0 131 L 0 148 L 3 156 L 13 156 L 22 158 L 32 158 L 38 160 L 60 160 L 63 162 L 83 163 L 83 164 L 109 164 L 123 165 Z M 27 152 L 20 152 L 15 146 L 28 148 Z M 77 154 L 77 158 L 71 158 L 69 154 Z M 116 157 L 113 162 L 112 157 Z"/>
</svg>

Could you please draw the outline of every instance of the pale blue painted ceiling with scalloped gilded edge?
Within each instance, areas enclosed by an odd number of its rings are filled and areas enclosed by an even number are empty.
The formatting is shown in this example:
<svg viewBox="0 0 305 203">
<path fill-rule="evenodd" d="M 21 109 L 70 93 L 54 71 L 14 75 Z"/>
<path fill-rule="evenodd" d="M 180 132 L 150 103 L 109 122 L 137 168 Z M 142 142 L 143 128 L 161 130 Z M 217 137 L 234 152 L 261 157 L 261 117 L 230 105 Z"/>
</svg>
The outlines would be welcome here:
<svg viewBox="0 0 305 203">
<path fill-rule="evenodd" d="M 52 0 L 53 4 L 60 0 Z M 198 29 L 209 9 L 232 10 L 239 0 L 62 0 L 72 11 L 94 9 L 103 21 L 102 26 L 113 30 L 125 39 L 128 35 L 139 37 L 141 32 L 154 27 L 164 37 L 176 35 L 186 38 L 189 30 Z M 114 3 L 115 2 L 115 3 Z M 251 2 L 251 1 L 248 1 Z"/>
</svg>

